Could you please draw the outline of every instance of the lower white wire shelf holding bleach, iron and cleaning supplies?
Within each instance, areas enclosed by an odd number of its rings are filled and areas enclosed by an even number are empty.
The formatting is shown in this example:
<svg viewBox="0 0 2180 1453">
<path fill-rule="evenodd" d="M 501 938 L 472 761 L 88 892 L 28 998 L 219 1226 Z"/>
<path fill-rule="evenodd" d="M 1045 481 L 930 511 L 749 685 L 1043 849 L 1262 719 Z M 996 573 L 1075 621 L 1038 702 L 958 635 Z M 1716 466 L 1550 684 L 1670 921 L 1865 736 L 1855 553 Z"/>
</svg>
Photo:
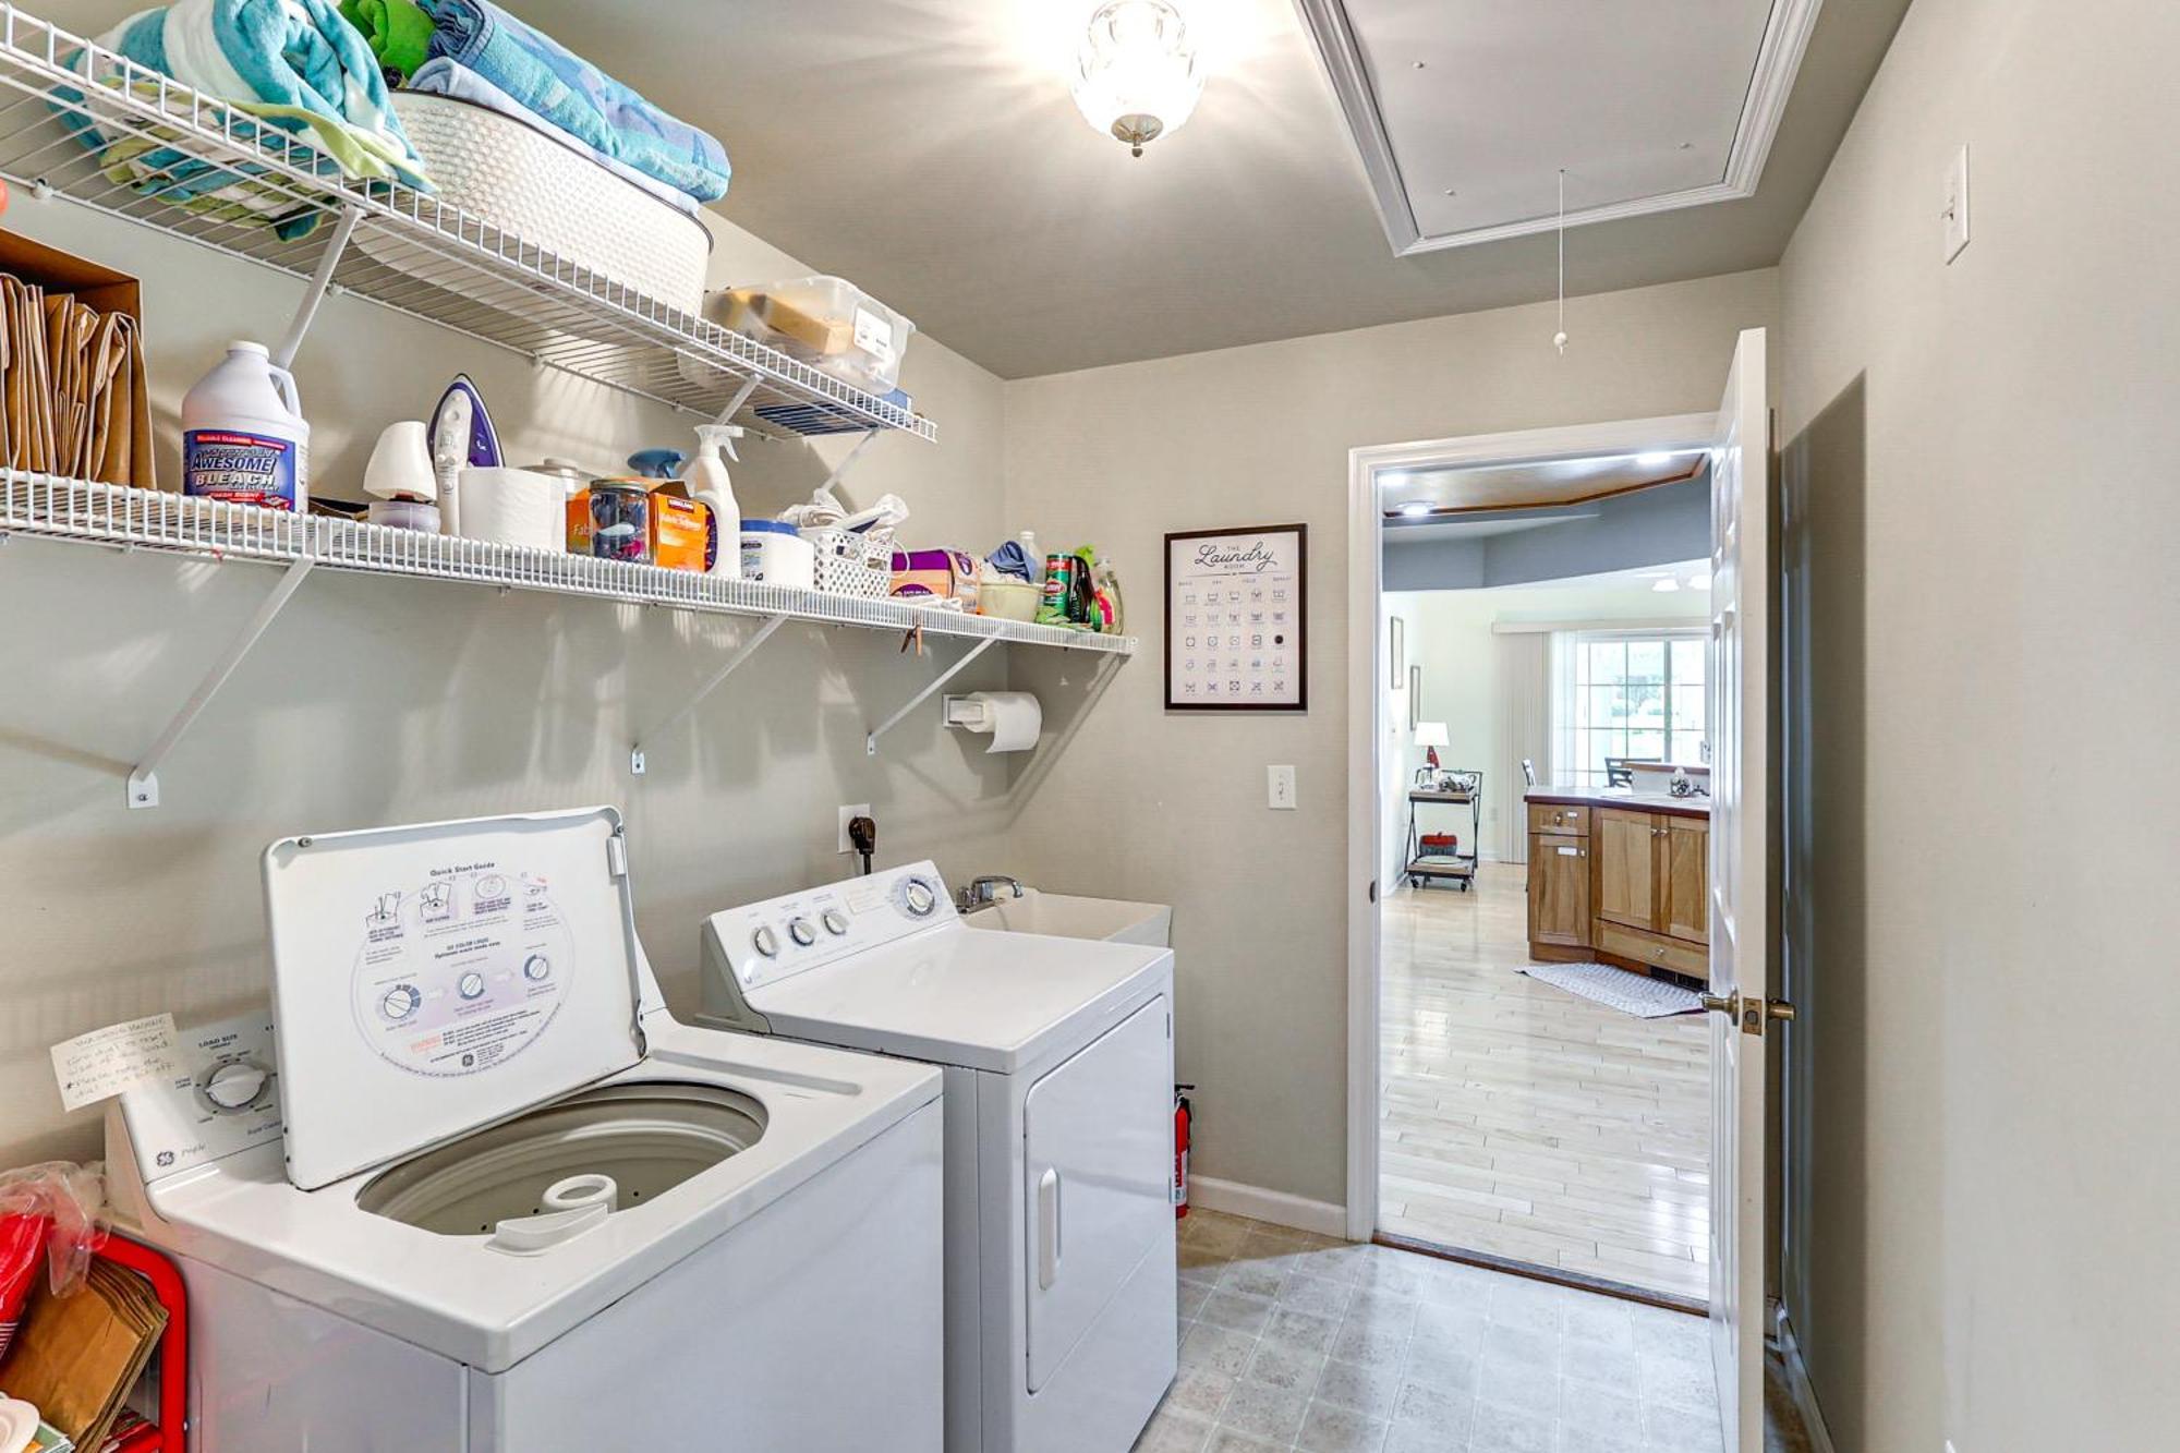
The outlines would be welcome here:
<svg viewBox="0 0 2180 1453">
<path fill-rule="evenodd" d="M 133 550 L 166 550 L 205 561 L 307 563 L 379 576 L 421 576 L 554 596 L 589 596 L 674 611 L 785 617 L 820 626 L 911 631 L 1018 646 L 1053 646 L 1131 657 L 1136 637 L 1068 631 L 964 615 L 900 600 L 861 600 L 759 580 L 724 580 L 687 569 L 628 565 L 556 550 L 497 545 L 453 535 L 290 515 L 249 504 L 192 500 L 155 489 L 94 484 L 0 469 L 0 532 Z"/>
</svg>

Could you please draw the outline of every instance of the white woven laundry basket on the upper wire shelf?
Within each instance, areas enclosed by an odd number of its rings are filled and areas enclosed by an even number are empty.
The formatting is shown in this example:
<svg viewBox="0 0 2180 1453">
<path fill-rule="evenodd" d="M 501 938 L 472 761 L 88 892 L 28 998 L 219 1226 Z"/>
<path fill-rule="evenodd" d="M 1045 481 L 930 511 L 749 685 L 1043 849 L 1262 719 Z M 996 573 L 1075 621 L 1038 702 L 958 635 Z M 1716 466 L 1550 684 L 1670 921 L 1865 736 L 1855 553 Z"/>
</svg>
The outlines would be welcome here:
<svg viewBox="0 0 2180 1453">
<path fill-rule="evenodd" d="M 711 233 L 693 216 L 497 111 L 421 92 L 395 92 L 392 107 L 440 201 L 669 308 L 704 305 Z M 408 273 L 432 262 L 384 233 L 362 244 Z"/>
</svg>

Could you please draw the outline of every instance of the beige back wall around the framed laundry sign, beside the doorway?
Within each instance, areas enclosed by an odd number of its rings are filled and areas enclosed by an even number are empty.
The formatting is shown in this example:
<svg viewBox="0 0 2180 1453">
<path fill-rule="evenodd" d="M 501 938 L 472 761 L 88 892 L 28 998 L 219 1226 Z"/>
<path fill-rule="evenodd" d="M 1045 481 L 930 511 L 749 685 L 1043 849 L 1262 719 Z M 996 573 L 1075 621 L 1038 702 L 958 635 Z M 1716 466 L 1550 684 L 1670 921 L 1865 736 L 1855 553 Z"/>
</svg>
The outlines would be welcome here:
<svg viewBox="0 0 2180 1453">
<path fill-rule="evenodd" d="M 1014 862 L 1175 905 L 1201 1174 L 1345 1200 L 1347 452 L 1709 410 L 1735 334 L 1775 319 L 1777 275 L 1737 273 L 1578 299 L 1565 358 L 1550 308 L 1509 308 L 1007 384 L 1009 513 L 1112 552 L 1147 641 L 1025 783 Z M 1310 526 L 1310 711 L 1164 711 L 1164 532 L 1288 521 Z M 1269 764 L 1295 764 L 1297 812 L 1264 807 Z"/>
</svg>

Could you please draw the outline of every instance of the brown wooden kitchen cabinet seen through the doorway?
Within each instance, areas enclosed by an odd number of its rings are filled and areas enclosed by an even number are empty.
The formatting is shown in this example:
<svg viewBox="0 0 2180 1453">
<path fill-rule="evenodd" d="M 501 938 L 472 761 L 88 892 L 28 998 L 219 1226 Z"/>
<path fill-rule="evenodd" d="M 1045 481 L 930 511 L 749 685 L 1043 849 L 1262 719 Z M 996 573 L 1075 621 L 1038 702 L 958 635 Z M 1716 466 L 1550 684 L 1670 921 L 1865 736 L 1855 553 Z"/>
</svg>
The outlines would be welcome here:
<svg viewBox="0 0 2180 1453">
<path fill-rule="evenodd" d="M 1530 801 L 1528 947 L 1539 960 L 1709 973 L 1711 820 L 1626 794 Z"/>
</svg>

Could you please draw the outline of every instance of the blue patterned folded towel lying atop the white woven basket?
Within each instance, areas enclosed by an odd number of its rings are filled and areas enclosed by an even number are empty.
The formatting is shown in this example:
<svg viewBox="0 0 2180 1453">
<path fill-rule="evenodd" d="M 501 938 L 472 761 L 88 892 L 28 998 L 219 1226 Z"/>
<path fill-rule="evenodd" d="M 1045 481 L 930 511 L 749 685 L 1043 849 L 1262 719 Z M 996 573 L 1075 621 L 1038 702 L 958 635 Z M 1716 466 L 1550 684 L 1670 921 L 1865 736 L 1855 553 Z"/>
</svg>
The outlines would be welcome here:
<svg viewBox="0 0 2180 1453">
<path fill-rule="evenodd" d="M 700 203 L 726 196 L 730 168 L 717 137 L 667 116 L 491 0 L 419 4 L 434 24 L 432 59 L 467 65 L 584 146 Z"/>
</svg>

